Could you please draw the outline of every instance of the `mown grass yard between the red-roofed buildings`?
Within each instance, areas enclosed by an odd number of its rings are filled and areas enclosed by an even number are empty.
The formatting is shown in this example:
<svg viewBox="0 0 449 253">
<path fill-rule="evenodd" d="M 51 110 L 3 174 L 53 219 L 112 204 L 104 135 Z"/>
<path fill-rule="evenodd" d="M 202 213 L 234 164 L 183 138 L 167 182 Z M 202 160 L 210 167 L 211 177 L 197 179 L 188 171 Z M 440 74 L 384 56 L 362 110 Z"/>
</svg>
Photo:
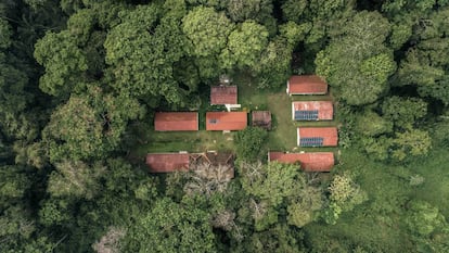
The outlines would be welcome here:
<svg viewBox="0 0 449 253">
<path fill-rule="evenodd" d="M 245 81 L 245 84 L 243 84 Z M 337 126 L 338 119 L 332 122 L 294 122 L 292 121 L 292 101 L 332 100 L 331 96 L 294 96 L 285 93 L 285 87 L 274 91 L 260 90 L 248 78 L 235 81 L 239 85 L 239 101 L 242 111 L 247 111 L 248 125 L 251 125 L 251 112 L 255 110 L 268 110 L 272 114 L 272 127 L 269 131 L 266 148 L 277 151 L 336 151 L 335 148 L 298 148 L 296 146 L 296 128 L 298 126 Z M 170 131 L 158 132 L 147 127 L 141 135 L 143 144 L 136 148 L 137 155 L 144 155 L 149 152 L 204 152 L 208 150 L 231 150 L 234 151 L 234 132 L 223 134 L 222 131 L 206 131 L 205 113 L 207 111 L 224 111 L 223 106 L 210 106 L 208 93 L 202 98 L 200 113 L 200 131 Z"/>
</svg>

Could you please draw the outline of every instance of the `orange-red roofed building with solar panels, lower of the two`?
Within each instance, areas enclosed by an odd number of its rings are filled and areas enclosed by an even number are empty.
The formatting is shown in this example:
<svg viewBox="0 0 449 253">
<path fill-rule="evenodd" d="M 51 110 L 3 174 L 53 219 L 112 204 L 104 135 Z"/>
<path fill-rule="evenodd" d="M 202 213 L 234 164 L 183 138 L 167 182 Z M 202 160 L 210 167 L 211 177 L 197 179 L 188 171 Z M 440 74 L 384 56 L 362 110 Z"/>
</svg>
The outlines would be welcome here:
<svg viewBox="0 0 449 253">
<path fill-rule="evenodd" d="M 299 127 L 297 130 L 299 147 L 335 147 L 338 144 L 336 127 Z"/>
</svg>

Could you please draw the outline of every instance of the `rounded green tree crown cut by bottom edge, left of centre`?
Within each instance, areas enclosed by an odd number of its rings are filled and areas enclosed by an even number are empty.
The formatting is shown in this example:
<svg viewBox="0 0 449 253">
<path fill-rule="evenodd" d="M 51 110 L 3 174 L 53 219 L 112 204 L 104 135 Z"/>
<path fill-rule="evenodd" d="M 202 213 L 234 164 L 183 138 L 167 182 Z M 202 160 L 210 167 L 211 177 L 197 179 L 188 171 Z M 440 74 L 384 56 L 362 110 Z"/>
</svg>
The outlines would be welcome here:
<svg viewBox="0 0 449 253">
<path fill-rule="evenodd" d="M 137 219 L 125 237 L 128 252 L 215 252 L 208 214 L 169 199 L 161 199 Z"/>
</svg>

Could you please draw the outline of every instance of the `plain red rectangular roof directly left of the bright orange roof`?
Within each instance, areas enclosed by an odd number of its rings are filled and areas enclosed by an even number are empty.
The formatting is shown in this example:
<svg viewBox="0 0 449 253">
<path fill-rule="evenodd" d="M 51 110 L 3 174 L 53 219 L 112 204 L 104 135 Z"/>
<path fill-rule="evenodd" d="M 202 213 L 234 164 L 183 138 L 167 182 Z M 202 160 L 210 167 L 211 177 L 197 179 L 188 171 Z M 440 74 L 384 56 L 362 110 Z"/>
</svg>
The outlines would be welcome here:
<svg viewBox="0 0 449 253">
<path fill-rule="evenodd" d="M 197 131 L 198 113 L 156 113 L 154 117 L 154 129 L 156 131 Z"/>
</svg>

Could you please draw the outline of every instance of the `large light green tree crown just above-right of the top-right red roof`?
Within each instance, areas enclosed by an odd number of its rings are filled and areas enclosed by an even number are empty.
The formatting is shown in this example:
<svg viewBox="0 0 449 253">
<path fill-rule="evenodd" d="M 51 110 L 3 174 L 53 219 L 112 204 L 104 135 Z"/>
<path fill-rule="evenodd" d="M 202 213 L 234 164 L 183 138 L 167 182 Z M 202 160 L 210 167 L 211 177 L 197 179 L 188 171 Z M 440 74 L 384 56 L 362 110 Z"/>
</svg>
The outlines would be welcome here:
<svg viewBox="0 0 449 253">
<path fill-rule="evenodd" d="M 351 105 L 376 101 L 395 72 L 392 50 L 385 47 L 390 25 L 377 12 L 359 12 L 317 54 L 317 73 Z"/>
</svg>

